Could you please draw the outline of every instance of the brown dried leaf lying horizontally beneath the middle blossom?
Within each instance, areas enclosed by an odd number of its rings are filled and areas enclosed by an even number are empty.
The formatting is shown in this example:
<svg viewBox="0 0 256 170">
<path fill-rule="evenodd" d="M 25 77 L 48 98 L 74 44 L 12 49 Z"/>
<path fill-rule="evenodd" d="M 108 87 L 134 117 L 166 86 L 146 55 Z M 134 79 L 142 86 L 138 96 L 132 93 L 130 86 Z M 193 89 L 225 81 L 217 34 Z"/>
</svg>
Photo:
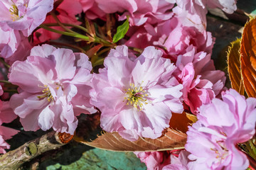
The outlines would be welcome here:
<svg viewBox="0 0 256 170">
<path fill-rule="evenodd" d="M 166 129 L 164 135 L 155 140 L 139 137 L 139 140 L 132 142 L 129 140 L 124 140 L 124 138 L 122 138 L 118 132 L 106 132 L 92 142 L 80 142 L 91 147 L 112 151 L 160 151 L 183 149 L 184 145 L 186 144 L 186 134 L 168 128 Z"/>
</svg>

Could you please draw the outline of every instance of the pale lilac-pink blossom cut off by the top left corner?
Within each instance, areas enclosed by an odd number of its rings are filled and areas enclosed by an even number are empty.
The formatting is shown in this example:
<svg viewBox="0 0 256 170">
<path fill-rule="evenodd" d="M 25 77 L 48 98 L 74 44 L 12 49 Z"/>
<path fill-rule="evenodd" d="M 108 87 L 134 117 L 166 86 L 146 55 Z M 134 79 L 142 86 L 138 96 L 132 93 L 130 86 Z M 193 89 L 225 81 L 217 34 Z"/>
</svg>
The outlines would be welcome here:
<svg viewBox="0 0 256 170">
<path fill-rule="evenodd" d="M 53 9 L 53 0 L 3 0 L 0 1 L 0 8 L 0 23 L 21 30 L 28 37 Z"/>
</svg>

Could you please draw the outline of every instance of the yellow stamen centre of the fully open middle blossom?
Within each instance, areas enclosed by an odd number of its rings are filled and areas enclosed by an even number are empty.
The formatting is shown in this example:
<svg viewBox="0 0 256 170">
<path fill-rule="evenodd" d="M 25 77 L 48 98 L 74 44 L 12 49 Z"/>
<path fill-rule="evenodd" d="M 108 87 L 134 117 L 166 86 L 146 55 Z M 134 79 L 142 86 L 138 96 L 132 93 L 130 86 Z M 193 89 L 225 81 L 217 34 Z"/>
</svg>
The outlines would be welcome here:
<svg viewBox="0 0 256 170">
<path fill-rule="evenodd" d="M 130 88 L 124 91 L 126 91 L 125 94 L 127 94 L 127 97 L 124 97 L 124 99 L 127 100 L 127 105 L 132 105 L 134 108 L 142 111 L 143 106 L 148 104 L 145 98 L 148 94 L 142 89 L 142 86 L 137 87 L 134 86 L 134 84 L 130 84 Z"/>
</svg>

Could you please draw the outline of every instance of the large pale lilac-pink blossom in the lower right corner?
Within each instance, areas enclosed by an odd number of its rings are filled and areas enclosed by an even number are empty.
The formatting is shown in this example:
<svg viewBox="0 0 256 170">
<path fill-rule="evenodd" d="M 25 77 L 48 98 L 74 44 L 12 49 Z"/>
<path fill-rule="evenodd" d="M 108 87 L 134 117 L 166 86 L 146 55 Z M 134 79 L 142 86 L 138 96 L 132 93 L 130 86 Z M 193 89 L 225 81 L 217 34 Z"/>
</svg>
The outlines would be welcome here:
<svg viewBox="0 0 256 170">
<path fill-rule="evenodd" d="M 255 134 L 256 99 L 230 89 L 222 92 L 223 101 L 199 108 L 198 121 L 188 128 L 185 148 L 191 154 L 191 169 L 247 169 L 249 162 L 237 148 Z"/>
</svg>

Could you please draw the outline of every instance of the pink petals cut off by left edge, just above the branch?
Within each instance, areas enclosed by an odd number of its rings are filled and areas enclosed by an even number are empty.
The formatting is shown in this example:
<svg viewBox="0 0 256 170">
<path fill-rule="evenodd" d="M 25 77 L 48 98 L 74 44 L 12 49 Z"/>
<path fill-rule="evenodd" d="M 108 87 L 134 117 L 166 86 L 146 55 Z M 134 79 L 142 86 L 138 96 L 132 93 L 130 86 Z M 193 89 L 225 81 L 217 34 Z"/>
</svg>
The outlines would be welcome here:
<svg viewBox="0 0 256 170">
<path fill-rule="evenodd" d="M 12 136 L 18 133 L 18 130 L 2 126 L 2 123 L 11 123 L 17 115 L 9 106 L 8 101 L 1 101 L 0 103 L 0 154 L 5 154 L 5 149 L 10 149 L 10 145 L 5 140 L 11 139 Z"/>
</svg>

